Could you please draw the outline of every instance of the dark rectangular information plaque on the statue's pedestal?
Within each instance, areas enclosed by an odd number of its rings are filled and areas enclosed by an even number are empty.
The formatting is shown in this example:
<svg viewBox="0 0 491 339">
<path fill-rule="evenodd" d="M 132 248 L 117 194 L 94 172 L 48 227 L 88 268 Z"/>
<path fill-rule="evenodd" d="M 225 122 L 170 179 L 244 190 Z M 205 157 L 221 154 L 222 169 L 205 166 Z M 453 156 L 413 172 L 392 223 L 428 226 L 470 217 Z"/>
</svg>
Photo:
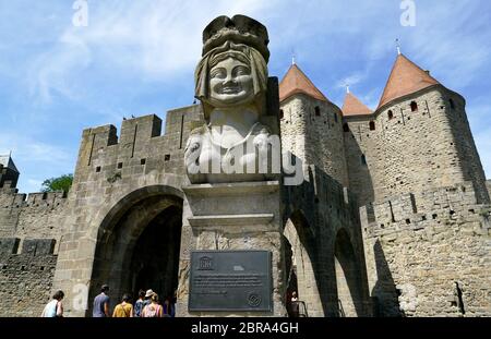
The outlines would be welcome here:
<svg viewBox="0 0 491 339">
<path fill-rule="evenodd" d="M 272 311 L 268 251 L 193 251 L 189 311 Z"/>
</svg>

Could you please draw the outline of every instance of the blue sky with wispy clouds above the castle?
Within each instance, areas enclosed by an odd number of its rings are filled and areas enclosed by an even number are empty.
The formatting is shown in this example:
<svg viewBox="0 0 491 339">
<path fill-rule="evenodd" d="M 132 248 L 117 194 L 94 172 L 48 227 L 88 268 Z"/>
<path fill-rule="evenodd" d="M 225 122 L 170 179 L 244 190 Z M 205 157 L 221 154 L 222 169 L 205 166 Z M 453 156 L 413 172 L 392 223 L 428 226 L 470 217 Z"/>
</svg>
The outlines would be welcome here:
<svg viewBox="0 0 491 339">
<path fill-rule="evenodd" d="M 87 0 L 75 27 L 72 0 L 0 2 L 0 154 L 13 152 L 21 192 L 73 172 L 82 130 L 193 101 L 201 33 L 217 15 L 246 14 L 270 32 L 271 75 L 295 53 L 314 84 L 340 106 L 345 83 L 375 108 L 403 52 L 467 99 L 491 178 L 491 2 L 415 0 Z"/>
</svg>

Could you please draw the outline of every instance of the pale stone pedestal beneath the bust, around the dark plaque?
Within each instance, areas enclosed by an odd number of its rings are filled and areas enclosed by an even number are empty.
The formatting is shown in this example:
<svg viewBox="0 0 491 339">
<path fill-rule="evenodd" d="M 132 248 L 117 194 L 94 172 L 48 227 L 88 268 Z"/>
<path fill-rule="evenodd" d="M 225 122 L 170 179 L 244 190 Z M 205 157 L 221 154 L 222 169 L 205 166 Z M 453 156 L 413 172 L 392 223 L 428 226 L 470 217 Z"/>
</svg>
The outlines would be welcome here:
<svg viewBox="0 0 491 339">
<path fill-rule="evenodd" d="M 183 191 L 183 237 L 193 239 L 188 251 L 181 249 L 178 316 L 286 316 L 279 182 L 192 184 Z M 272 311 L 189 311 L 191 251 L 235 250 L 271 252 Z"/>
</svg>

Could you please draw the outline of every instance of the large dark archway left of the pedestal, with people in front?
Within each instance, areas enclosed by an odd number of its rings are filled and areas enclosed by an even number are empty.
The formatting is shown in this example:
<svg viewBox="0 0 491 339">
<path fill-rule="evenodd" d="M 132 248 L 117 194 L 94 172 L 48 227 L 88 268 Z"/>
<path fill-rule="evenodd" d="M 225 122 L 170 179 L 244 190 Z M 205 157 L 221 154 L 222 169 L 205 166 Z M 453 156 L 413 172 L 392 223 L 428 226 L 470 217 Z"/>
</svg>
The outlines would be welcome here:
<svg viewBox="0 0 491 339">
<path fill-rule="evenodd" d="M 111 306 L 123 293 L 153 289 L 160 300 L 178 284 L 182 198 L 142 189 L 111 209 L 99 228 L 91 277 L 88 307 L 103 283 L 110 287 Z"/>
</svg>

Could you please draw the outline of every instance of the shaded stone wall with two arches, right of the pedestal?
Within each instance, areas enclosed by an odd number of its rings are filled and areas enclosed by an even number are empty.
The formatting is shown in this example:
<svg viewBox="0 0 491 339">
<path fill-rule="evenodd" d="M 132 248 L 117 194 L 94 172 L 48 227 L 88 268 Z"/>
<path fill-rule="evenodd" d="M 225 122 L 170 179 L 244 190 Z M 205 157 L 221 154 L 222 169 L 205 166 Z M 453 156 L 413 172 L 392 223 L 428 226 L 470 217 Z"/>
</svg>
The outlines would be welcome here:
<svg viewBox="0 0 491 339">
<path fill-rule="evenodd" d="M 284 186 L 283 199 L 298 298 L 309 316 L 371 315 L 356 197 L 309 166 L 302 185 Z"/>
</svg>

